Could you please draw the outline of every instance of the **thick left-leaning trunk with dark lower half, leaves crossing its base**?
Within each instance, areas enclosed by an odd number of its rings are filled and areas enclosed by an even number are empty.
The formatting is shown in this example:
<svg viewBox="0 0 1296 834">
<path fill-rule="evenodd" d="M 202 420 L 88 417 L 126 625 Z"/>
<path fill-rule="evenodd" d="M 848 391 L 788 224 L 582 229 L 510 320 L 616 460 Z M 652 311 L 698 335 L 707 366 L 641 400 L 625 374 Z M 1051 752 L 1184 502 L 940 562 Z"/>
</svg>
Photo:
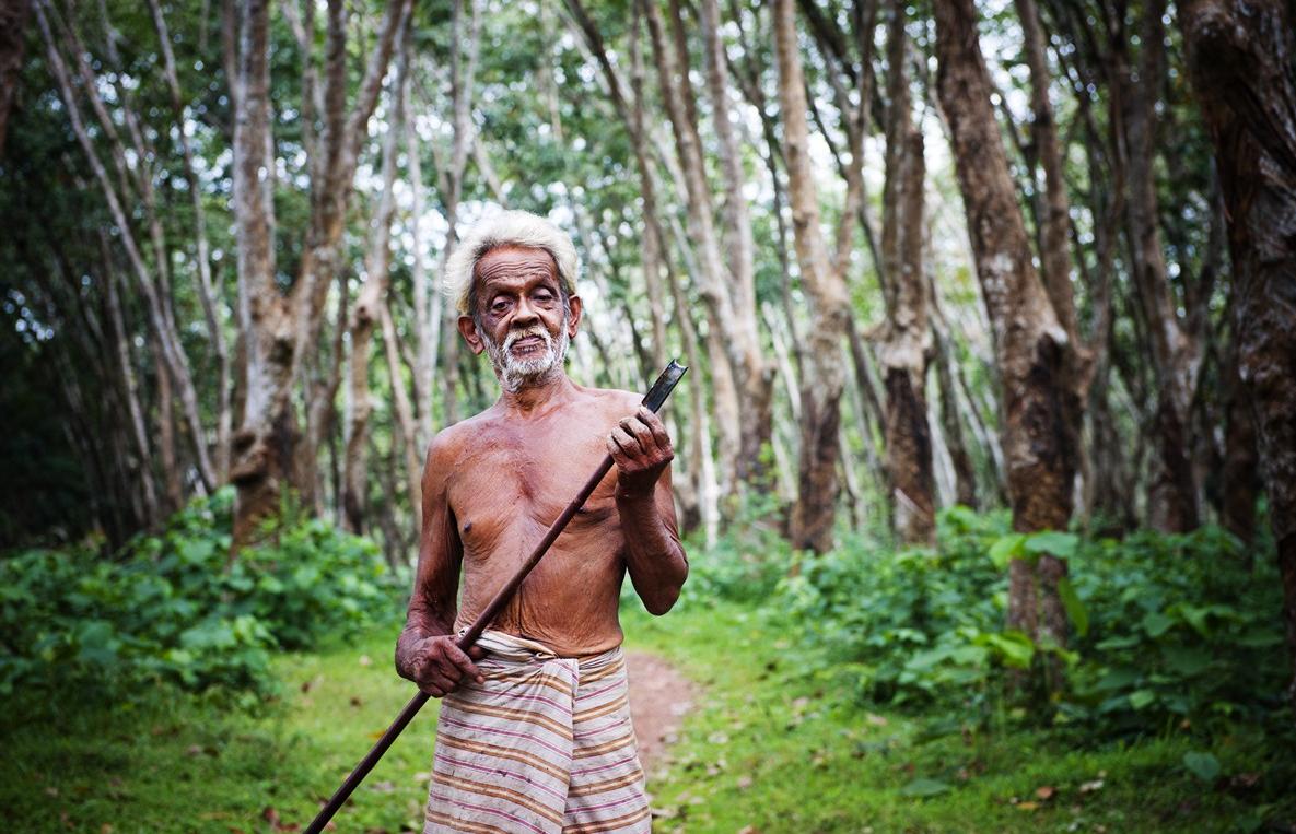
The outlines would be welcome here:
<svg viewBox="0 0 1296 834">
<path fill-rule="evenodd" d="M 1078 403 L 1067 385 L 1073 344 L 1058 321 L 1030 253 L 1025 221 L 990 105 L 972 0 L 938 0 L 937 91 L 949 122 L 981 295 L 994 332 L 1003 390 L 1003 438 L 1012 526 L 1065 530 L 1077 466 Z M 1056 583 L 1064 561 L 1010 566 L 1008 624 L 1065 645 Z"/>
</svg>

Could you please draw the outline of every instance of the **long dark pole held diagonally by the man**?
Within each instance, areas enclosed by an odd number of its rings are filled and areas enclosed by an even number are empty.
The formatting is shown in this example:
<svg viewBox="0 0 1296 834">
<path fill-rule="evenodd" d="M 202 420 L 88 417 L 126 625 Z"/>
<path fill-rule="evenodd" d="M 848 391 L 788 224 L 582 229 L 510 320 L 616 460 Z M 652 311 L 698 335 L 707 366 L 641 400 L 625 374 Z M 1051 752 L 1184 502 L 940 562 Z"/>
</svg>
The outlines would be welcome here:
<svg viewBox="0 0 1296 834">
<path fill-rule="evenodd" d="M 666 369 L 661 372 L 661 376 L 657 377 L 657 382 L 654 382 L 652 389 L 648 390 L 648 395 L 644 396 L 644 405 L 653 412 L 658 411 L 666 401 L 666 398 L 670 396 L 675 383 L 678 383 L 684 376 L 686 370 L 688 370 L 687 366 L 671 360 L 670 364 L 666 365 Z M 513 578 L 509 579 L 503 588 L 500 588 L 499 593 L 496 593 L 486 607 L 482 609 L 482 613 L 476 620 L 473 620 L 473 624 L 468 627 L 468 631 L 465 631 L 459 640 L 455 641 L 455 645 L 459 646 L 460 650 L 468 651 L 468 649 L 477 642 L 477 638 L 482 636 L 482 632 L 486 631 L 486 627 L 490 626 L 495 616 L 498 616 L 504 606 L 508 605 L 508 601 L 513 598 L 513 594 L 517 592 L 518 587 L 521 587 L 522 580 L 525 580 L 527 574 L 530 574 L 531 570 L 539 565 L 540 558 L 543 558 L 544 553 L 548 552 L 555 539 L 557 539 L 559 534 L 562 532 L 562 528 L 568 526 L 572 517 L 575 515 L 577 510 L 584 505 L 586 500 L 588 500 L 590 495 L 592 495 L 595 488 L 597 488 L 604 475 L 607 475 L 612 469 L 612 456 L 604 456 L 603 462 L 599 464 L 599 469 L 590 477 L 584 486 L 581 487 L 581 492 L 572 499 L 572 502 L 566 505 L 562 514 L 560 514 L 553 523 L 550 524 L 544 537 L 535 545 L 531 554 L 526 557 L 522 566 L 517 569 Z M 369 752 L 360 759 L 360 763 L 355 765 L 351 774 L 346 777 L 341 787 L 338 787 L 333 796 L 328 800 L 328 804 L 320 808 L 320 812 L 315 815 L 311 824 L 306 826 L 306 834 L 319 834 L 324 830 L 324 826 L 333 818 L 333 815 L 337 813 L 338 808 L 341 808 L 342 804 L 351 796 L 351 793 L 360 786 L 360 782 L 363 782 L 364 777 L 369 774 L 373 765 L 378 763 L 378 759 L 381 759 L 388 751 L 391 743 L 397 739 L 397 736 L 399 736 L 410 721 L 413 720 L 413 716 L 419 714 L 422 704 L 428 703 L 429 698 L 430 695 L 428 693 L 420 690 L 413 698 L 410 699 L 410 703 L 400 710 L 400 715 L 391 721 L 391 727 L 382 733 L 382 738 L 380 738 Z"/>
</svg>

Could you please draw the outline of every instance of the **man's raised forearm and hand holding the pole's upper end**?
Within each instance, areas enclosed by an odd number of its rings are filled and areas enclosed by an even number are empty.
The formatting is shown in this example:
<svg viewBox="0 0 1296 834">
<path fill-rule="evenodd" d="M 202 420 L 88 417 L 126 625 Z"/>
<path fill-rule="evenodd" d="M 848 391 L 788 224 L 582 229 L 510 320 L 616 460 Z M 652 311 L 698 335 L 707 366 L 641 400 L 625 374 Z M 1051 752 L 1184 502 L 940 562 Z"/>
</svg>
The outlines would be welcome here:
<svg viewBox="0 0 1296 834">
<path fill-rule="evenodd" d="M 640 407 L 608 435 L 608 453 L 617 464 L 626 571 L 644 607 L 665 614 L 688 576 L 670 492 L 670 461 L 675 457 L 670 436 L 661 418 Z"/>
</svg>

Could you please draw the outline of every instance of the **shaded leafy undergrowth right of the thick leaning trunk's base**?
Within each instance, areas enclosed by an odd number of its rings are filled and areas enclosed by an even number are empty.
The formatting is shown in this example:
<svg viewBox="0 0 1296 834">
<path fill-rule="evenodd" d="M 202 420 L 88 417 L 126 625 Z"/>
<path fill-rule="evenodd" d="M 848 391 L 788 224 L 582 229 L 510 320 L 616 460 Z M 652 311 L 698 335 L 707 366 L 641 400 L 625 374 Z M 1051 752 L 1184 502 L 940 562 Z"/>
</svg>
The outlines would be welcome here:
<svg viewBox="0 0 1296 834">
<path fill-rule="evenodd" d="M 1137 729 L 1277 708 L 1290 670 L 1275 559 L 1252 571 L 1240 550 L 1217 527 L 1087 543 L 1072 580 L 1094 624 L 1064 715 Z"/>
</svg>

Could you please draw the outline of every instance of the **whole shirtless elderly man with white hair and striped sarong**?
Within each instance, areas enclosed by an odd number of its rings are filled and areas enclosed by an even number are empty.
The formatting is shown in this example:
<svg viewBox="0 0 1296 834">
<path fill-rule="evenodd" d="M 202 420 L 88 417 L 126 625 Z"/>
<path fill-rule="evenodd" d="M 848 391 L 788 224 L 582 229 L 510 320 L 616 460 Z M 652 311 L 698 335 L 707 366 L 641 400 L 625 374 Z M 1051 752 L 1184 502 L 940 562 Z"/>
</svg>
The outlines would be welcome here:
<svg viewBox="0 0 1296 834">
<path fill-rule="evenodd" d="M 478 224 L 447 264 L 459 332 L 499 400 L 438 434 L 397 670 L 445 697 L 425 831 L 648 831 L 617 603 L 625 575 L 665 614 L 688 561 L 670 438 L 639 396 L 578 386 L 570 238 L 520 211 Z M 610 429 L 610 433 L 609 433 Z M 455 635 L 513 575 L 610 453 L 616 468 L 468 654 Z M 463 596 L 456 605 L 459 574 Z"/>
</svg>

